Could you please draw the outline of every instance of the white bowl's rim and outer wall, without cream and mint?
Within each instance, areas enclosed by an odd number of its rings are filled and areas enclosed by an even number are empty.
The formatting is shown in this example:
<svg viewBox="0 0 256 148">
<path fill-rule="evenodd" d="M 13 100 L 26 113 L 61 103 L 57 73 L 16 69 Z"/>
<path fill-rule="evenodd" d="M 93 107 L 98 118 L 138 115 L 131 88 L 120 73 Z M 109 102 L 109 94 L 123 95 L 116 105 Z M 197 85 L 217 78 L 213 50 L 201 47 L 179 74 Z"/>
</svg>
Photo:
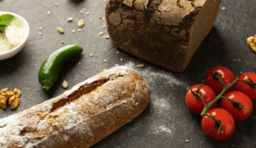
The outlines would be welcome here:
<svg viewBox="0 0 256 148">
<path fill-rule="evenodd" d="M 12 56 L 15 56 L 16 54 L 18 54 L 18 52 L 20 52 L 20 50 L 22 50 L 22 48 L 25 46 L 26 41 L 28 39 L 28 35 L 30 34 L 30 26 L 28 26 L 28 22 L 24 18 L 22 18 L 22 16 L 12 13 L 12 12 L 0 11 L 0 16 L 3 14 L 12 14 L 16 18 L 18 18 L 17 20 L 14 20 L 15 22 L 13 21 L 12 24 L 14 24 L 14 25 L 18 24 L 18 25 L 16 25 L 17 27 L 24 28 L 26 37 L 25 37 L 24 41 L 22 41 L 22 43 L 20 43 L 20 45 L 16 46 L 12 50 L 0 53 L 0 60 L 5 60 L 7 58 L 11 58 Z"/>
</svg>

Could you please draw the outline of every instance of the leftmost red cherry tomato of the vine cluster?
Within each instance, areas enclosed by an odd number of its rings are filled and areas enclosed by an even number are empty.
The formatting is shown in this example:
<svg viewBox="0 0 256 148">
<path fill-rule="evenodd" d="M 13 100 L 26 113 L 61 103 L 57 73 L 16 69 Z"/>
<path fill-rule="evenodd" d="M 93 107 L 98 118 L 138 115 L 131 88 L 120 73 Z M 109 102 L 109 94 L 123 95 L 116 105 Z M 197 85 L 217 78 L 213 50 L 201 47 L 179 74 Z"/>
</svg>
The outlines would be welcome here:
<svg viewBox="0 0 256 148">
<path fill-rule="evenodd" d="M 198 87 L 200 85 L 201 84 L 195 84 L 194 86 L 192 86 L 191 87 L 192 91 L 196 92 L 196 90 L 198 90 Z M 190 111 L 192 111 L 193 113 L 195 113 L 197 115 L 201 115 L 203 108 L 204 108 L 203 102 L 200 98 L 196 99 L 194 97 L 194 95 L 191 92 L 191 88 L 189 88 L 188 92 L 186 92 L 186 98 L 185 98 L 186 105 L 188 106 L 188 109 L 190 109 Z M 207 104 L 211 103 L 216 98 L 216 94 L 215 94 L 214 90 L 205 84 L 202 85 L 202 87 L 199 90 L 199 93 L 203 93 L 209 98 L 209 99 L 207 99 L 203 94 L 201 94 L 203 100 Z M 213 105 L 211 105 L 211 108 L 214 108 L 216 106 L 216 103 L 217 102 L 213 103 Z"/>
</svg>

